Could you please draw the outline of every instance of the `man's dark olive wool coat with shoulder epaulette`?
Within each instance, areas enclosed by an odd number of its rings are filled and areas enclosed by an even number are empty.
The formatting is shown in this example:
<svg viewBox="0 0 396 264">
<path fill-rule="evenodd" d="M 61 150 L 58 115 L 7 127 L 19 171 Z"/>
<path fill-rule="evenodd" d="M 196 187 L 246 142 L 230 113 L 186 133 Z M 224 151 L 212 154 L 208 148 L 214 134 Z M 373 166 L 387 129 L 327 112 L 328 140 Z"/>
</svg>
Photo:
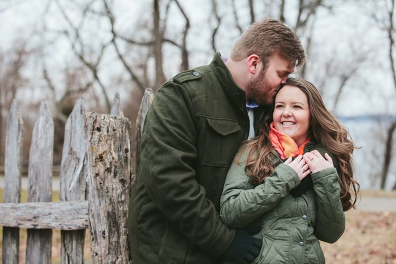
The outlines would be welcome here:
<svg viewBox="0 0 396 264">
<path fill-rule="evenodd" d="M 262 110 L 254 110 L 255 127 Z M 220 219 L 220 196 L 248 130 L 245 91 L 219 53 L 159 89 L 129 206 L 134 264 L 219 263 L 235 236 Z"/>
</svg>

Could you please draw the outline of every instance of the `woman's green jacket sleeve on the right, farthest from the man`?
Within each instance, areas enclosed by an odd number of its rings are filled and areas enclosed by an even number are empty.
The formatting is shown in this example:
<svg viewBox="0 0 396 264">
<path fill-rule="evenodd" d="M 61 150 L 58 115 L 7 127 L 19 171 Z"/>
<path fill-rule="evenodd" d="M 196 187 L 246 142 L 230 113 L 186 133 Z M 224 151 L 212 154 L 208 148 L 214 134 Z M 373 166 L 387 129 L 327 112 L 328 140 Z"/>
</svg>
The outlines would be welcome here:
<svg viewBox="0 0 396 264">
<path fill-rule="evenodd" d="M 317 203 L 315 235 L 319 240 L 334 243 L 345 231 L 345 213 L 336 168 L 312 173 L 312 182 Z"/>
</svg>

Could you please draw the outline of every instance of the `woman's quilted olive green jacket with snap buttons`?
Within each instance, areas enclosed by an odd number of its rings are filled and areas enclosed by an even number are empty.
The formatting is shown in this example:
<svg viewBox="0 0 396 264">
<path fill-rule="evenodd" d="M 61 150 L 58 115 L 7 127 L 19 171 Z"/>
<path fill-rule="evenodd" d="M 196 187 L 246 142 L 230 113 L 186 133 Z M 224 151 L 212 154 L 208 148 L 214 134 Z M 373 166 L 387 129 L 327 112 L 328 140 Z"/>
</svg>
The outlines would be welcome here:
<svg viewBox="0 0 396 264">
<path fill-rule="evenodd" d="M 326 152 L 313 143 L 308 143 L 305 151 L 314 149 L 322 155 Z M 273 154 L 273 161 L 278 163 L 279 156 Z M 262 239 L 263 246 L 253 264 L 325 263 L 318 240 L 334 243 L 345 230 L 336 168 L 312 173 L 313 187 L 297 197 L 290 192 L 300 180 L 290 166 L 280 163 L 272 176 L 257 186 L 249 183 L 244 169 L 244 162 L 232 163 L 221 197 L 220 216 L 232 227 L 244 227 L 257 219 L 261 222 L 256 236 Z"/>
</svg>

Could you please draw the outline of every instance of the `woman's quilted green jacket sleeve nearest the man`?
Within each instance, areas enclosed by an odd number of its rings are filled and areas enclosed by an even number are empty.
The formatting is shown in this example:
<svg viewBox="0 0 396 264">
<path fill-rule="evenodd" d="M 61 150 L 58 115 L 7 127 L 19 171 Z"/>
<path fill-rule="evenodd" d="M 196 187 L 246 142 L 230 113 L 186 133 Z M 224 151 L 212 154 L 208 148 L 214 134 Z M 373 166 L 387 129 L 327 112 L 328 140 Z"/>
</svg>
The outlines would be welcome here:
<svg viewBox="0 0 396 264">
<path fill-rule="evenodd" d="M 246 155 L 241 157 L 241 161 Z M 245 162 L 232 162 L 220 199 L 220 217 L 231 227 L 244 227 L 274 208 L 300 180 L 297 173 L 285 164 L 279 164 L 272 176 L 257 186 L 249 184 Z"/>
</svg>

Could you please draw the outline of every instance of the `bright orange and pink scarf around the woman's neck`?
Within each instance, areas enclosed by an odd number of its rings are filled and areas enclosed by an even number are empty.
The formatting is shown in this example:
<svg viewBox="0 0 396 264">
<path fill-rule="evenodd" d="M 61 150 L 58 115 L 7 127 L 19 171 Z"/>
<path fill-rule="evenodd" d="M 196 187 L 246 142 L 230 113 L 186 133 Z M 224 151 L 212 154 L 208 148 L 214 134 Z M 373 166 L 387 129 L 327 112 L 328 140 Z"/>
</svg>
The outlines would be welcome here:
<svg viewBox="0 0 396 264">
<path fill-rule="evenodd" d="M 270 125 L 269 138 L 272 142 L 272 146 L 279 153 L 282 159 L 289 157 L 297 157 L 298 155 L 304 154 L 304 148 L 309 142 L 310 137 L 305 140 L 301 146 L 297 146 L 296 142 L 289 136 L 282 134 L 277 131 L 274 126 L 274 122 Z"/>
</svg>

